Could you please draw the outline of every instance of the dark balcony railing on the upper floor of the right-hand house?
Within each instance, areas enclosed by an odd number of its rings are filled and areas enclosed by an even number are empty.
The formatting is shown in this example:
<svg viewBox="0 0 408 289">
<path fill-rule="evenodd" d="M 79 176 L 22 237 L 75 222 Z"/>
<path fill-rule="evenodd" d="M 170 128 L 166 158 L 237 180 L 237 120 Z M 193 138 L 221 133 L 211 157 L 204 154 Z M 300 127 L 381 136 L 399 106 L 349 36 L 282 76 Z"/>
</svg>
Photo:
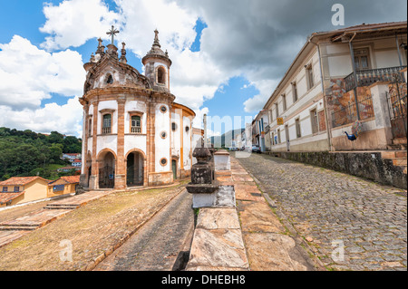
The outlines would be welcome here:
<svg viewBox="0 0 408 289">
<path fill-rule="evenodd" d="M 357 83 L 355 83 L 355 73 L 352 72 L 345 77 L 345 91 L 349 92 L 356 87 L 369 86 L 375 82 L 394 82 L 395 75 L 400 75 L 400 77 L 403 78 L 401 71 L 405 67 L 406 66 L 395 66 L 357 71 Z M 403 79 L 403 81 L 405 80 Z"/>
</svg>

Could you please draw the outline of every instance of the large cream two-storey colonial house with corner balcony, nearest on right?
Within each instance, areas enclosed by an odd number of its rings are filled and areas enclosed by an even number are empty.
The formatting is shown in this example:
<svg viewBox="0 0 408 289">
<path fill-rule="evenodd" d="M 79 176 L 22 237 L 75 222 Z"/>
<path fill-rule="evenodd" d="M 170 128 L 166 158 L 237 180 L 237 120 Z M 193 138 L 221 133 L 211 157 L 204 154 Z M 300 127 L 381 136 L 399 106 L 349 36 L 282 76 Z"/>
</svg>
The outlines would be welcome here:
<svg viewBox="0 0 408 289">
<path fill-rule="evenodd" d="M 268 149 L 406 149 L 406 34 L 406 21 L 311 34 L 264 106 Z"/>
</svg>

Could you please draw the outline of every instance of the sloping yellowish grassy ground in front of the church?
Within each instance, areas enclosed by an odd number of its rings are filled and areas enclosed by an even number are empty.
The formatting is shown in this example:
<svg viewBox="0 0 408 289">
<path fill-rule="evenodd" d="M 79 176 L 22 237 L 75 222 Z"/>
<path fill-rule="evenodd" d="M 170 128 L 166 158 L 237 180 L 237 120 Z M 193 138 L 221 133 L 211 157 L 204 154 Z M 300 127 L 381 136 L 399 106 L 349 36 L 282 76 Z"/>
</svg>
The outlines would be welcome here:
<svg viewBox="0 0 408 289">
<path fill-rule="evenodd" d="M 119 192 L 79 207 L 0 248 L 0 270 L 82 270 L 134 232 L 184 186 Z M 72 262 L 60 259 L 63 240 L 73 244 Z"/>
</svg>

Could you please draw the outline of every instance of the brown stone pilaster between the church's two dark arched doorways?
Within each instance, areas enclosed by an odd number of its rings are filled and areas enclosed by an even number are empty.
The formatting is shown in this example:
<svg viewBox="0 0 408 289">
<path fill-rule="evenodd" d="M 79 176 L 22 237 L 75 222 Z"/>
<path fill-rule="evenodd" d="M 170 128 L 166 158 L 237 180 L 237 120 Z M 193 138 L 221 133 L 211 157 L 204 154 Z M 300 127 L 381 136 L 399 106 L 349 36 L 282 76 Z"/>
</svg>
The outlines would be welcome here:
<svg viewBox="0 0 408 289">
<path fill-rule="evenodd" d="M 125 126 L 125 104 L 124 96 L 118 99 L 118 142 L 117 160 L 115 168 L 115 188 L 126 188 L 126 162 L 124 159 L 124 126 Z"/>
</svg>

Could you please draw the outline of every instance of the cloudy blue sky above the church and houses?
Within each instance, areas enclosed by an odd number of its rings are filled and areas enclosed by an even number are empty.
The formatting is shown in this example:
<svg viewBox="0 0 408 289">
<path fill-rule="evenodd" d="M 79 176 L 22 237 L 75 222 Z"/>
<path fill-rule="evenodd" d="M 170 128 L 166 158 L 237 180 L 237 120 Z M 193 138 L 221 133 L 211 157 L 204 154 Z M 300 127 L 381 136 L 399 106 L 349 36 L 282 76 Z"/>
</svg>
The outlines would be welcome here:
<svg viewBox="0 0 408 289">
<path fill-rule="evenodd" d="M 345 7 L 335 26 L 332 6 Z M 0 127 L 81 137 L 85 71 L 97 39 L 120 30 L 128 64 L 154 30 L 168 50 L 170 91 L 197 114 L 255 117 L 314 32 L 406 21 L 403 0 L 0 0 Z M 233 129 L 238 129 L 234 126 Z M 219 135 L 228 131 L 211 130 Z"/>
</svg>

